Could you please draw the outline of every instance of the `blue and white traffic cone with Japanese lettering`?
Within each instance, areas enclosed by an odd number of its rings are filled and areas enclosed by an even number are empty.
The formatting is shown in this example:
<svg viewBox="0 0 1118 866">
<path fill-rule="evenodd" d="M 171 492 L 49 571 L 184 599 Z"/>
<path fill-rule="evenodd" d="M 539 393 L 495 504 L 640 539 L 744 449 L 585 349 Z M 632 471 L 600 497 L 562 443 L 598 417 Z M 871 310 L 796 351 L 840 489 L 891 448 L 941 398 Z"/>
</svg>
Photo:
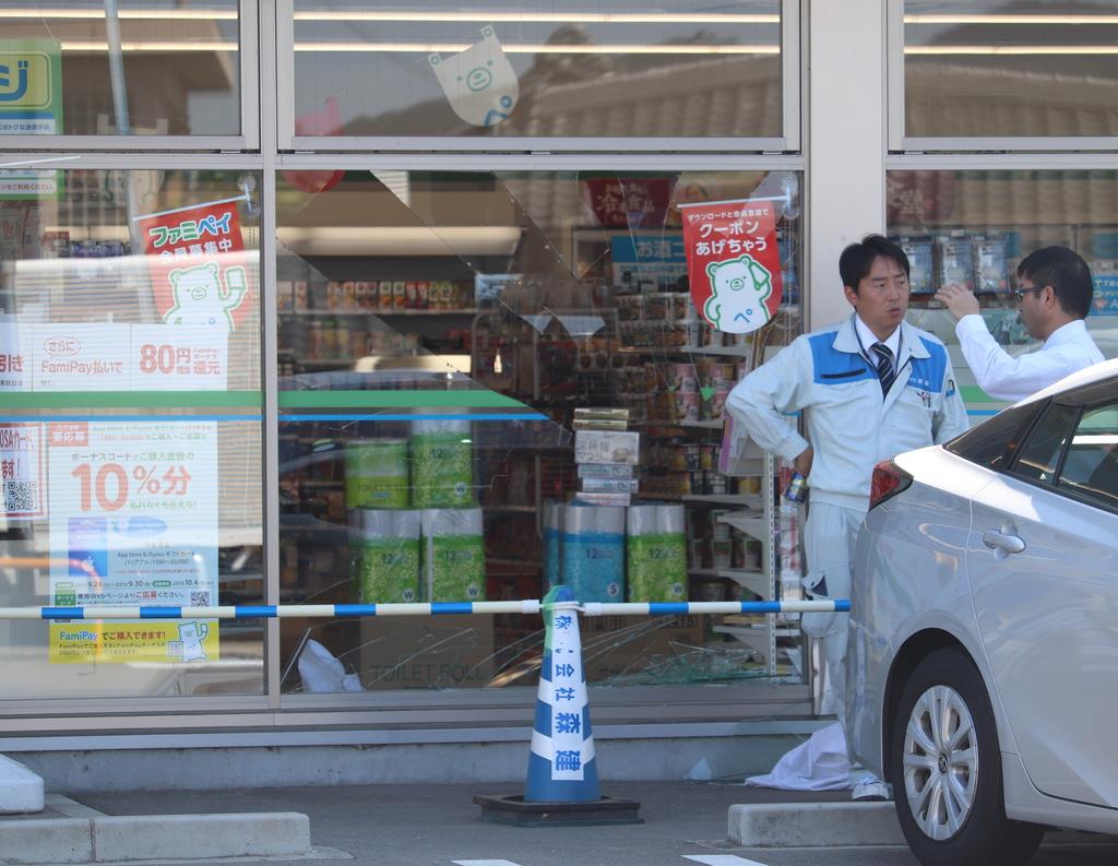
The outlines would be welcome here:
<svg viewBox="0 0 1118 866">
<path fill-rule="evenodd" d="M 528 756 L 524 802 L 585 803 L 601 799 L 582 674 L 578 605 L 570 589 L 556 586 L 543 612 L 543 668 Z"/>
</svg>

